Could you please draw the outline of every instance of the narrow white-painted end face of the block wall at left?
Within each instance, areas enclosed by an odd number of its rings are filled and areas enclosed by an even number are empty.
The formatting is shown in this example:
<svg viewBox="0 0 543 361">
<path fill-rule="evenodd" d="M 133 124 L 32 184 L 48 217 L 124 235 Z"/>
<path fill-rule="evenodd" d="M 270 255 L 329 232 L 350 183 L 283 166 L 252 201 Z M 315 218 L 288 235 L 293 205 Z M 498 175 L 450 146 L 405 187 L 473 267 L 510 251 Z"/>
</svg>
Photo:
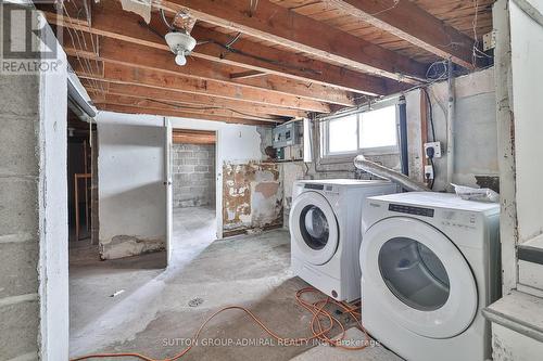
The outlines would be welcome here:
<svg viewBox="0 0 543 361">
<path fill-rule="evenodd" d="M 39 89 L 40 359 L 53 361 L 68 359 L 70 339 L 67 60 L 49 26 L 43 27 L 42 35 L 49 47 L 56 47 L 60 61 L 58 72 L 40 74 Z"/>
</svg>

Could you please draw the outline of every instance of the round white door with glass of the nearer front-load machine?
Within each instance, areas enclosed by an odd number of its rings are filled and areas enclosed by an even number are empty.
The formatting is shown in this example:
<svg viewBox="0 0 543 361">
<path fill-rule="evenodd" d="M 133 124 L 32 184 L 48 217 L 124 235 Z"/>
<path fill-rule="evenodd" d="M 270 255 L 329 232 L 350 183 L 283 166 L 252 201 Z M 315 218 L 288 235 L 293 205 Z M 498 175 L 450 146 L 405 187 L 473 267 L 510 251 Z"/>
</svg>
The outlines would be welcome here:
<svg viewBox="0 0 543 361">
<path fill-rule="evenodd" d="M 456 336 L 476 315 L 477 286 L 468 263 L 450 238 L 424 221 L 392 217 L 374 224 L 364 234 L 361 267 L 371 285 L 367 292 L 382 298 L 384 313 L 418 335 Z"/>
</svg>

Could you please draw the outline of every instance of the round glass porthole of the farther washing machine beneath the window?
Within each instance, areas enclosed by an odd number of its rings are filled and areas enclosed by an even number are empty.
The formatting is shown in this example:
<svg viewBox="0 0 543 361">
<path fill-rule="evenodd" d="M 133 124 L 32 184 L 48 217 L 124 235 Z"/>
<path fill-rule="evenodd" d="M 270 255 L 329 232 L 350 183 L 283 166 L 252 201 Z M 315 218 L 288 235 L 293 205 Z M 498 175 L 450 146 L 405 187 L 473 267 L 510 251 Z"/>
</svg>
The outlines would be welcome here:
<svg viewBox="0 0 543 361">
<path fill-rule="evenodd" d="M 306 206 L 300 214 L 300 231 L 307 246 L 323 249 L 328 243 L 330 228 L 325 214 L 316 206 Z"/>
</svg>

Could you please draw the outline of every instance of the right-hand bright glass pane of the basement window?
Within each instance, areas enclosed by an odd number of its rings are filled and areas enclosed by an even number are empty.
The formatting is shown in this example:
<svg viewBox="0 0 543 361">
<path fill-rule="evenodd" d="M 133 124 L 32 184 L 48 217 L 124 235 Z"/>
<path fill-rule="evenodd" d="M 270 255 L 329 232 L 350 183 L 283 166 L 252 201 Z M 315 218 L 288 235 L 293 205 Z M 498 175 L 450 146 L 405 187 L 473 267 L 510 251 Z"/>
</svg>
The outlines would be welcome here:
<svg viewBox="0 0 543 361">
<path fill-rule="evenodd" d="M 361 147 L 395 146 L 396 107 L 387 106 L 361 116 Z"/>
</svg>

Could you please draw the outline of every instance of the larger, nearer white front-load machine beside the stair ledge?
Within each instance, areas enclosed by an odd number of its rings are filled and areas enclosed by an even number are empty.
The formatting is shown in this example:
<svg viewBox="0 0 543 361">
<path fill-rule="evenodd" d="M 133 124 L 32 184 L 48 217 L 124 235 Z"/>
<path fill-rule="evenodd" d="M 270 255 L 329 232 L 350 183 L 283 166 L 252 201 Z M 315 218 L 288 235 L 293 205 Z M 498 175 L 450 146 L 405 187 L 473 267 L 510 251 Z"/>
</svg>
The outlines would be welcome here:
<svg viewBox="0 0 543 361">
<path fill-rule="evenodd" d="M 361 247 L 362 322 L 413 361 L 490 359 L 481 309 L 500 294 L 500 205 L 455 194 L 369 197 Z"/>
</svg>

